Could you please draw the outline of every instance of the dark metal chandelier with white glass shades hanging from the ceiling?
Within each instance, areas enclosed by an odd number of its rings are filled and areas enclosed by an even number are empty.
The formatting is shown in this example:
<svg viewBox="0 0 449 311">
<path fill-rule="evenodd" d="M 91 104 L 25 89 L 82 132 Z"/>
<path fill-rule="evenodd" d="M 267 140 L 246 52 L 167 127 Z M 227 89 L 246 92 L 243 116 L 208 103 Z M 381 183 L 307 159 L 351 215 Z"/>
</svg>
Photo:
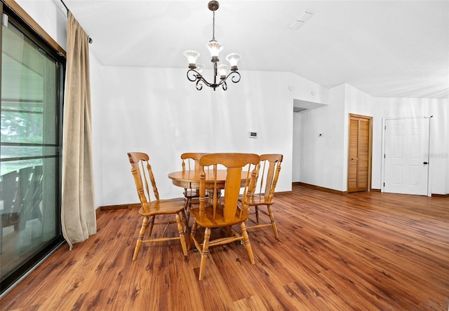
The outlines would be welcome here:
<svg viewBox="0 0 449 311">
<path fill-rule="evenodd" d="M 196 58 L 199 57 L 199 53 L 194 50 L 186 50 L 184 52 L 185 57 L 187 57 L 187 60 L 189 61 L 189 70 L 187 71 L 187 79 L 189 81 L 195 82 L 196 81 L 196 90 L 201 90 L 203 88 L 203 83 L 206 84 L 208 87 L 213 88 L 215 90 L 220 85 L 222 86 L 223 90 L 227 90 L 227 78 L 231 76 L 231 80 L 234 83 L 237 83 L 240 81 L 240 74 L 237 71 L 237 62 L 240 60 L 240 55 L 236 53 L 231 53 L 227 55 L 226 60 L 231 65 L 231 72 L 227 74 L 228 66 L 227 64 L 220 64 L 217 63 L 220 62 L 218 59 L 218 54 L 223 49 L 223 46 L 218 42 L 215 41 L 215 11 L 217 11 L 218 7 L 220 5 L 218 4 L 218 1 L 210 1 L 208 3 L 208 8 L 210 11 L 213 12 L 213 22 L 212 22 L 212 40 L 209 41 L 209 43 L 206 45 L 208 48 L 210 55 L 212 56 L 212 59 L 210 62 L 213 64 L 213 83 L 210 83 L 206 81 L 206 79 L 202 75 L 202 71 L 204 69 L 203 64 L 196 64 Z M 220 75 L 220 81 L 217 82 L 217 75 Z"/>
</svg>

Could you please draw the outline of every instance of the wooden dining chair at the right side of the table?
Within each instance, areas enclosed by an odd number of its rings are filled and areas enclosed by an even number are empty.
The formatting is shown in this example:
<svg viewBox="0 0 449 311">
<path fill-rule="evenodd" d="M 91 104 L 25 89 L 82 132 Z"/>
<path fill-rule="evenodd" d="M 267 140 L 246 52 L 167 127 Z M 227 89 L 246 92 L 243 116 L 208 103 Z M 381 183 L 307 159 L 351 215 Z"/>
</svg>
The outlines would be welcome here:
<svg viewBox="0 0 449 311">
<path fill-rule="evenodd" d="M 246 223 L 247 229 L 263 228 L 271 226 L 274 231 L 274 237 L 279 241 L 278 230 L 276 229 L 276 223 L 274 222 L 274 216 L 272 211 L 272 205 L 274 203 L 274 189 L 279 178 L 279 172 L 281 172 L 281 163 L 283 155 L 281 154 L 262 154 L 260 155 L 260 168 L 257 175 L 257 189 L 255 193 L 252 193 L 249 201 L 250 216 Z M 241 200 L 241 199 L 240 199 Z M 254 207 L 254 212 L 251 210 Z M 266 207 L 260 209 L 260 207 Z M 264 221 L 260 222 L 259 212 L 269 216 L 269 223 Z M 254 215 L 253 218 L 251 215 Z M 252 224 L 249 224 L 252 223 Z"/>
</svg>

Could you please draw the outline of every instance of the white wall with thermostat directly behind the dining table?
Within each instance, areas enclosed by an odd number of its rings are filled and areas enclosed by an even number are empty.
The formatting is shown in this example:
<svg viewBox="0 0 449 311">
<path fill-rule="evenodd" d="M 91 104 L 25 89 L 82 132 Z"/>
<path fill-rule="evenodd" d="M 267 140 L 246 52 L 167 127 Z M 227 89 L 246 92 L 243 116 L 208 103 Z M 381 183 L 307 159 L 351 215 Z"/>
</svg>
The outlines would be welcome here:
<svg viewBox="0 0 449 311">
<path fill-rule="evenodd" d="M 102 67 L 101 205 L 138 201 L 128 151 L 149 153 L 161 198 L 181 194 L 167 174 L 180 170 L 183 152 L 282 153 L 276 190 L 290 191 L 293 94 L 288 85 L 293 75 L 241 71 L 240 83 L 214 92 L 196 90 L 185 73 Z M 258 138 L 249 138 L 249 131 L 258 132 Z"/>
</svg>

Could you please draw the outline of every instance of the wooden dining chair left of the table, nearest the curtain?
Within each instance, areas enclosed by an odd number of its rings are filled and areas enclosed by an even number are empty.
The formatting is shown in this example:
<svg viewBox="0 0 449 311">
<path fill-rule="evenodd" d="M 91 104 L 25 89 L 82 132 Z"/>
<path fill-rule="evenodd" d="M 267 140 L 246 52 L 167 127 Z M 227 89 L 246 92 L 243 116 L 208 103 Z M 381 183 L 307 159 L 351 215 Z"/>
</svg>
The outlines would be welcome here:
<svg viewBox="0 0 449 311">
<path fill-rule="evenodd" d="M 143 216 L 142 227 L 138 236 L 137 244 L 135 245 L 133 261 L 137 258 L 140 246 L 145 242 L 166 242 L 169 240 L 180 240 L 182 251 L 185 258 L 188 258 L 187 243 L 185 233 L 189 234 L 189 224 L 184 211 L 184 198 L 175 198 L 169 200 L 159 200 L 159 192 L 154 181 L 152 167 L 149 165 L 149 156 L 142 152 L 129 152 L 129 162 L 131 163 L 131 173 L 133 174 L 135 187 L 138 191 L 140 200 L 139 214 Z M 149 183 L 152 186 L 154 200 L 150 200 Z M 145 185 L 145 186 L 144 186 Z M 166 221 L 166 215 L 175 215 L 175 220 Z M 163 218 L 156 222 L 156 218 Z M 168 226 L 172 223 L 177 224 L 178 236 L 167 237 Z M 145 231 L 148 229 L 148 239 L 144 240 Z M 152 230 L 154 225 L 165 225 L 163 233 L 159 237 L 152 237 Z"/>
</svg>

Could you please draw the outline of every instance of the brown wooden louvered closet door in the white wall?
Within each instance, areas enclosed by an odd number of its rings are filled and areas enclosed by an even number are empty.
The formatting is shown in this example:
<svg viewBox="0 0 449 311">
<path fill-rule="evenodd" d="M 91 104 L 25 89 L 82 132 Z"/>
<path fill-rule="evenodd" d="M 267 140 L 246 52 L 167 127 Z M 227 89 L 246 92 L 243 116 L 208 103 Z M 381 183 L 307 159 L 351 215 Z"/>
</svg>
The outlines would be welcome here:
<svg viewBox="0 0 449 311">
<path fill-rule="evenodd" d="M 372 121 L 349 115 L 348 192 L 370 190 Z"/>
</svg>

